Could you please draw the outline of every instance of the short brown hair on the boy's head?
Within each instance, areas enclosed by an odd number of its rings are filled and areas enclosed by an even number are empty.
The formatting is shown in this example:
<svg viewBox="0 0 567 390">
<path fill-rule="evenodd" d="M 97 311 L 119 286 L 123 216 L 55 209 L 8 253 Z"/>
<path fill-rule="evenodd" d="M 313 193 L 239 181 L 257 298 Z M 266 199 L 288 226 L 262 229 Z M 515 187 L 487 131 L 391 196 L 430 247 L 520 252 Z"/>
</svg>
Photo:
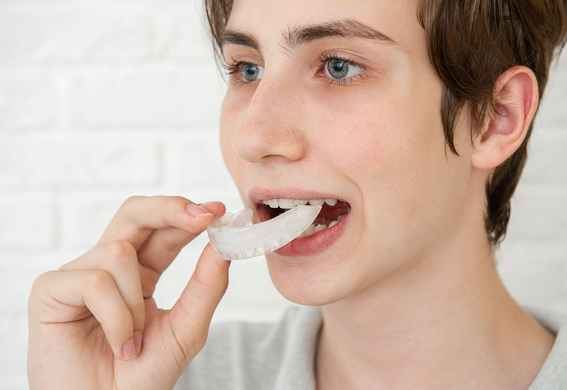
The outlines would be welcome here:
<svg viewBox="0 0 567 390">
<path fill-rule="evenodd" d="M 232 0 L 205 0 L 206 16 L 220 55 L 220 37 Z M 441 116 L 452 152 L 454 129 L 462 108 L 471 111 L 471 138 L 481 131 L 487 110 L 494 111 L 495 82 L 506 69 L 532 69 L 539 99 L 549 67 L 566 43 L 567 0 L 420 0 L 417 18 L 425 29 L 427 51 L 444 83 Z M 520 147 L 495 168 L 486 183 L 485 227 L 495 246 L 506 235 L 510 199 L 527 159 L 533 121 Z"/>
</svg>

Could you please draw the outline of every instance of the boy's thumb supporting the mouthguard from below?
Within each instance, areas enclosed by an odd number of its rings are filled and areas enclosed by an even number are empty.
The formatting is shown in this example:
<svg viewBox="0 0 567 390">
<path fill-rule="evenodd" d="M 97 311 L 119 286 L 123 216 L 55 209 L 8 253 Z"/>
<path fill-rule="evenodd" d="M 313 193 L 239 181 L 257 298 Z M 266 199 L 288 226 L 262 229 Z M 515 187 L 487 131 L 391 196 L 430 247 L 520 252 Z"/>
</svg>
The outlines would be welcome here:
<svg viewBox="0 0 567 390">
<path fill-rule="evenodd" d="M 205 346 L 213 313 L 228 288 L 230 261 L 207 244 L 179 300 L 169 312 L 172 333 L 189 364 Z"/>
</svg>

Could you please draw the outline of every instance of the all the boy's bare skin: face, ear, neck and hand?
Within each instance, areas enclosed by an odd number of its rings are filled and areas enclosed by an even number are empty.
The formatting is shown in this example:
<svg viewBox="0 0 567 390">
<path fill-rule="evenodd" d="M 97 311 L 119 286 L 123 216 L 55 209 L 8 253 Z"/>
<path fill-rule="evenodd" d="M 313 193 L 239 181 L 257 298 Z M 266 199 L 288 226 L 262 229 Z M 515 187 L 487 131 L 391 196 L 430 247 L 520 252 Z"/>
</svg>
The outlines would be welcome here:
<svg viewBox="0 0 567 390">
<path fill-rule="evenodd" d="M 268 256 L 283 296 L 323 306 L 319 390 L 527 389 L 554 338 L 505 290 L 483 213 L 485 182 L 522 142 L 537 83 L 526 68 L 502 74 L 500 115 L 489 113 L 471 143 L 465 109 L 452 154 L 415 9 L 410 0 L 235 1 L 228 30 L 257 48 L 227 42 L 225 60 L 264 74 L 246 82 L 237 68 L 230 78 L 223 156 L 246 206 L 261 194 L 324 194 L 352 207 L 325 250 Z M 290 28 L 344 19 L 391 41 L 327 37 L 286 48 Z M 325 53 L 357 74 L 333 81 L 318 61 Z M 228 283 L 229 263 L 209 246 L 171 311 L 151 297 L 181 247 L 225 212 L 201 206 L 129 199 L 93 250 L 35 281 L 30 389 L 173 388 Z"/>
</svg>

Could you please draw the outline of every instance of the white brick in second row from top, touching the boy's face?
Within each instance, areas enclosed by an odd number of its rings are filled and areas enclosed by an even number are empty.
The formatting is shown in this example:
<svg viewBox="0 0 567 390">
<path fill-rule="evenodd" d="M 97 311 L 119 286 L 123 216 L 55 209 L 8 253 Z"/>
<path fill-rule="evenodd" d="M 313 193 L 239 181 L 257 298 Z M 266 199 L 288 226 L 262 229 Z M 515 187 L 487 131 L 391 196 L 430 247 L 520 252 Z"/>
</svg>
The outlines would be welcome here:
<svg viewBox="0 0 567 390">
<path fill-rule="evenodd" d="M 218 113 L 220 88 L 209 65 L 189 69 L 106 70 L 72 82 L 72 121 L 79 128 L 190 126 Z"/>
</svg>

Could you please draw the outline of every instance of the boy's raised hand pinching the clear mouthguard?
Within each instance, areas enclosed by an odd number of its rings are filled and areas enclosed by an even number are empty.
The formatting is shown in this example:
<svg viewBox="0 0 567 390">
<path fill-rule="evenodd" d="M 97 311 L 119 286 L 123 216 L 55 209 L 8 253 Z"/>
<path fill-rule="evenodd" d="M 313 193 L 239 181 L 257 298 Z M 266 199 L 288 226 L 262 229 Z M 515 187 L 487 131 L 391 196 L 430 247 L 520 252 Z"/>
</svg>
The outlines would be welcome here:
<svg viewBox="0 0 567 390">
<path fill-rule="evenodd" d="M 152 294 L 182 247 L 225 213 L 180 197 L 125 201 L 93 250 L 35 280 L 30 389 L 173 389 L 205 345 L 230 262 L 207 245 L 169 311 Z"/>
</svg>

